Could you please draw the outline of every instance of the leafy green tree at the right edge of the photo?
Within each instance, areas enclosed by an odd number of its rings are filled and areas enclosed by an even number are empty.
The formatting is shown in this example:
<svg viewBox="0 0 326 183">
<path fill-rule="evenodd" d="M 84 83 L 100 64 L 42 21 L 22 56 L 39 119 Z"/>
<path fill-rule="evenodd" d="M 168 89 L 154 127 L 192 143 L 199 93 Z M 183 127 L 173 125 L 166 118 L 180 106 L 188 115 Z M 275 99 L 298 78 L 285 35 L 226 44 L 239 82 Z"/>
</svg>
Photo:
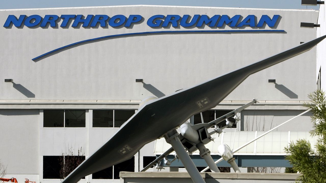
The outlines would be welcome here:
<svg viewBox="0 0 326 183">
<path fill-rule="evenodd" d="M 326 97 L 323 91 L 317 90 L 309 98 L 312 103 L 305 103 L 304 106 L 313 113 L 313 130 L 310 134 L 318 137 L 316 151 L 311 149 L 308 141 L 300 139 L 285 148 L 285 159 L 289 160 L 295 171 L 302 174 L 298 181 L 321 183 L 326 182 Z"/>
</svg>

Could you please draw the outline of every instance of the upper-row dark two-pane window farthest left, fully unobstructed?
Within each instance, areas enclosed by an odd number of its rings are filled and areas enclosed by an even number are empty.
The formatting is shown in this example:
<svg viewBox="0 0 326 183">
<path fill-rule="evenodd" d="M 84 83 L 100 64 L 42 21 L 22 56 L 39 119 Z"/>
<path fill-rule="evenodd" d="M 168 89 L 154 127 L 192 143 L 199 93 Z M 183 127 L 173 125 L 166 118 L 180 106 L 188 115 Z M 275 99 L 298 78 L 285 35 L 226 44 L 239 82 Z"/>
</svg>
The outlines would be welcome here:
<svg viewBox="0 0 326 183">
<path fill-rule="evenodd" d="M 85 127 L 85 110 L 44 110 L 43 127 Z"/>
</svg>

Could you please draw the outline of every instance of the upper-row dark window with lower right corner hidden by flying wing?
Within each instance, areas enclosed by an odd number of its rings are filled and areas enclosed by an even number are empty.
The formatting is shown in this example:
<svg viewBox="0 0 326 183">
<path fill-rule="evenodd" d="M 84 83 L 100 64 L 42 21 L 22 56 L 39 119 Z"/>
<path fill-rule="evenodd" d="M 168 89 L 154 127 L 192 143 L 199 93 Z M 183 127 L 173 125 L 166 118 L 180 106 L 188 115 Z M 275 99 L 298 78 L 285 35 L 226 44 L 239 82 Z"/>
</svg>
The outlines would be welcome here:
<svg viewBox="0 0 326 183">
<path fill-rule="evenodd" d="M 120 127 L 134 110 L 93 110 L 93 127 Z"/>
</svg>

